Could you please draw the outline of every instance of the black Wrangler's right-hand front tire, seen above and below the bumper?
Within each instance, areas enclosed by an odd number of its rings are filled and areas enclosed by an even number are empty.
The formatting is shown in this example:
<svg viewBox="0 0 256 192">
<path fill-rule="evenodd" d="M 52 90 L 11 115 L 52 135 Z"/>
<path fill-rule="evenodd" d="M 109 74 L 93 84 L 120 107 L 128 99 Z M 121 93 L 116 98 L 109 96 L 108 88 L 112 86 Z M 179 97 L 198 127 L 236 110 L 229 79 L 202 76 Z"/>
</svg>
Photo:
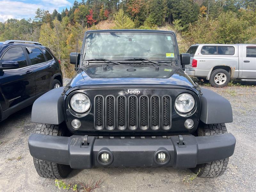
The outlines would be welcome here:
<svg viewBox="0 0 256 192">
<path fill-rule="evenodd" d="M 197 129 L 198 136 L 218 135 L 227 133 L 225 124 L 204 124 Z M 220 159 L 209 163 L 198 164 L 192 168 L 194 173 L 198 173 L 198 177 L 217 177 L 225 172 L 228 166 L 228 159 Z M 200 171 L 199 171 L 200 170 Z"/>
</svg>

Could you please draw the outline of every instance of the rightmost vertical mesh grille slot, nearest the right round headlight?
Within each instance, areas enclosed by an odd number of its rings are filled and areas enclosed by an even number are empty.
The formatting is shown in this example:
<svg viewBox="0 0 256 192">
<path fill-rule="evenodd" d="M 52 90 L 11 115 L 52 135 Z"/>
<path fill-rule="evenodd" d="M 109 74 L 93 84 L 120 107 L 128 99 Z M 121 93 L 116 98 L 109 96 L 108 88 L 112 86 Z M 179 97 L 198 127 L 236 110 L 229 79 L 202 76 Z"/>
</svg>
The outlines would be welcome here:
<svg viewBox="0 0 256 192">
<path fill-rule="evenodd" d="M 172 124 L 172 107 L 171 107 L 171 102 L 172 99 L 169 95 L 164 95 L 162 97 L 162 128 L 164 130 L 169 130 L 171 128 Z"/>
</svg>

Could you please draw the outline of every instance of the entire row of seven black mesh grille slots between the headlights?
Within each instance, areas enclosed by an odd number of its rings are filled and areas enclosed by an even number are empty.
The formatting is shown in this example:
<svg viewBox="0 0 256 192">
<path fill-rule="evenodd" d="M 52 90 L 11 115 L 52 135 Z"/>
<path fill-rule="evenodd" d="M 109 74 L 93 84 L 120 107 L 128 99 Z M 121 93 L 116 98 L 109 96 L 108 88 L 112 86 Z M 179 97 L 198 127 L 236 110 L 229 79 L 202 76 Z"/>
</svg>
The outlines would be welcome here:
<svg viewBox="0 0 256 192">
<path fill-rule="evenodd" d="M 127 128 L 132 131 L 137 128 L 158 130 L 160 127 L 169 130 L 172 125 L 171 104 L 169 95 L 153 95 L 150 98 L 147 95 L 119 95 L 117 98 L 97 95 L 94 99 L 94 127 L 109 131 L 115 128 L 121 131 Z"/>
</svg>

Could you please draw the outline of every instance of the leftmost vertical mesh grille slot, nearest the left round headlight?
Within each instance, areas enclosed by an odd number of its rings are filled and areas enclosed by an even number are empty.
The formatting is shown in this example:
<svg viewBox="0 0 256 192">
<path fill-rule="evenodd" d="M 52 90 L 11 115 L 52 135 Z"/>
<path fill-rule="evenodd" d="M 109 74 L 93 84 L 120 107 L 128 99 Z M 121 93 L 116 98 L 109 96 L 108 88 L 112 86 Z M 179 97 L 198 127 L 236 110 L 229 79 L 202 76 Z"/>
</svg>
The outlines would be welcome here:
<svg viewBox="0 0 256 192">
<path fill-rule="evenodd" d="M 104 98 L 96 95 L 94 98 L 94 127 L 96 130 L 102 130 L 104 127 Z"/>
</svg>

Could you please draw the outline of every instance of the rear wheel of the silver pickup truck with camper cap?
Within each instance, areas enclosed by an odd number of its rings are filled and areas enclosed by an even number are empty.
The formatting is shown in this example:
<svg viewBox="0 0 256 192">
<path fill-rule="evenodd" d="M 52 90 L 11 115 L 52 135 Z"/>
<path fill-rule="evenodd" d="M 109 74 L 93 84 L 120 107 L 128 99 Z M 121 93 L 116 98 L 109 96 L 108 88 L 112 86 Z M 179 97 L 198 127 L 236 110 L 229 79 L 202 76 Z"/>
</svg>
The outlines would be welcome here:
<svg viewBox="0 0 256 192">
<path fill-rule="evenodd" d="M 212 71 L 209 82 L 213 87 L 225 87 L 230 81 L 230 74 L 224 69 Z"/>
</svg>

